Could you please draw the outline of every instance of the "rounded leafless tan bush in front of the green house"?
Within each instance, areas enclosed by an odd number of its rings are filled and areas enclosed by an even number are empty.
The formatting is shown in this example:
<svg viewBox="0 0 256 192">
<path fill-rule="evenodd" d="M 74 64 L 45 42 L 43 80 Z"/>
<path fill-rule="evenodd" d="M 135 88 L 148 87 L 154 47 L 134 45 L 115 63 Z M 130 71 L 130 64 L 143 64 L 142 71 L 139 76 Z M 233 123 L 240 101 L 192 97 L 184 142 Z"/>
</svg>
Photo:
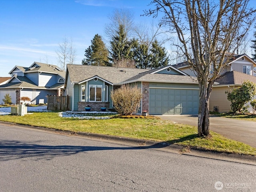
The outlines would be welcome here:
<svg viewBox="0 0 256 192">
<path fill-rule="evenodd" d="M 121 115 L 132 115 L 138 112 L 142 93 L 137 86 L 122 85 L 110 93 L 116 111 Z"/>
</svg>

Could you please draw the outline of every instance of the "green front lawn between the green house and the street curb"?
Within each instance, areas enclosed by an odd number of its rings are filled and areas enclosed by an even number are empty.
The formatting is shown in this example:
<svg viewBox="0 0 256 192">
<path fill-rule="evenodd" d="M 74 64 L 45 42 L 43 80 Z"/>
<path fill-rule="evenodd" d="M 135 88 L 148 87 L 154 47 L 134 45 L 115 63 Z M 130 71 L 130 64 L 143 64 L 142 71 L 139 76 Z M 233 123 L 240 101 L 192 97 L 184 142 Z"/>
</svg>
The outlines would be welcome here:
<svg viewBox="0 0 256 192">
<path fill-rule="evenodd" d="M 211 132 L 210 138 L 198 138 L 197 128 L 177 124 L 159 118 L 110 118 L 78 119 L 63 118 L 57 112 L 35 112 L 25 116 L 0 116 L 0 121 L 14 122 L 31 126 L 90 132 L 188 146 L 190 148 L 256 155 L 256 148 L 224 138 Z"/>
</svg>

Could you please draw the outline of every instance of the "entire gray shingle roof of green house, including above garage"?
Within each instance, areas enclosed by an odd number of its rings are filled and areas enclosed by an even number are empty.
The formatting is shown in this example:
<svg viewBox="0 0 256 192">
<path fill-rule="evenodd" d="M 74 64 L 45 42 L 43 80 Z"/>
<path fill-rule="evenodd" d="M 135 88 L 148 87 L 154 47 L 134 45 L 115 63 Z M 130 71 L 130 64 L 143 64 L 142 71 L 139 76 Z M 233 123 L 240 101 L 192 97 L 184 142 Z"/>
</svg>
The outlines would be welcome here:
<svg viewBox="0 0 256 192">
<path fill-rule="evenodd" d="M 99 76 L 113 84 L 125 84 L 129 82 L 146 81 L 146 82 L 176 82 L 176 83 L 195 83 L 194 77 L 184 75 L 170 74 L 151 74 L 161 68 L 154 70 L 138 68 L 116 68 L 103 66 L 88 65 L 67 65 L 67 74 L 71 82 L 82 82 L 94 76 Z"/>
</svg>

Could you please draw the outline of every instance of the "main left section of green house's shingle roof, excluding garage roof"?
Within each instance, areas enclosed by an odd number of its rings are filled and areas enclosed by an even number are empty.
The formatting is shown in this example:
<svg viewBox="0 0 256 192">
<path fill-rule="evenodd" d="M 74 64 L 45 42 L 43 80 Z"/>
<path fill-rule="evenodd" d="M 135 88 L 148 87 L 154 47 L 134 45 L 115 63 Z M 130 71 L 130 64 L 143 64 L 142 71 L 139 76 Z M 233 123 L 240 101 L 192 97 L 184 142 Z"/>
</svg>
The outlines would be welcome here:
<svg viewBox="0 0 256 192">
<path fill-rule="evenodd" d="M 67 65 L 67 73 L 70 76 L 71 82 L 81 82 L 94 76 L 99 76 L 113 84 L 120 84 L 133 76 L 142 72 L 147 72 L 148 69 L 138 68 L 117 68 L 107 66 L 90 66 L 90 65 Z"/>
</svg>

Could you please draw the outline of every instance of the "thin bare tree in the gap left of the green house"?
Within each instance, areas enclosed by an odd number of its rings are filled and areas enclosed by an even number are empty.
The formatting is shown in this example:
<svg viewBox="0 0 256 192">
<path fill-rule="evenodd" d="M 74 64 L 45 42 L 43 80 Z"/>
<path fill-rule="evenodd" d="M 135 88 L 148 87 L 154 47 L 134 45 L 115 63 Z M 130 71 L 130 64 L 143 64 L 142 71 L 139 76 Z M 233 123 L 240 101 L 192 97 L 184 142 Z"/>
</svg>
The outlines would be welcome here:
<svg viewBox="0 0 256 192">
<path fill-rule="evenodd" d="M 59 43 L 59 48 L 56 50 L 58 58 L 58 66 L 62 70 L 66 70 L 66 64 L 74 64 L 76 61 L 76 48 L 73 46 L 73 41 L 68 41 L 67 38 L 63 39 L 62 43 Z"/>
</svg>

